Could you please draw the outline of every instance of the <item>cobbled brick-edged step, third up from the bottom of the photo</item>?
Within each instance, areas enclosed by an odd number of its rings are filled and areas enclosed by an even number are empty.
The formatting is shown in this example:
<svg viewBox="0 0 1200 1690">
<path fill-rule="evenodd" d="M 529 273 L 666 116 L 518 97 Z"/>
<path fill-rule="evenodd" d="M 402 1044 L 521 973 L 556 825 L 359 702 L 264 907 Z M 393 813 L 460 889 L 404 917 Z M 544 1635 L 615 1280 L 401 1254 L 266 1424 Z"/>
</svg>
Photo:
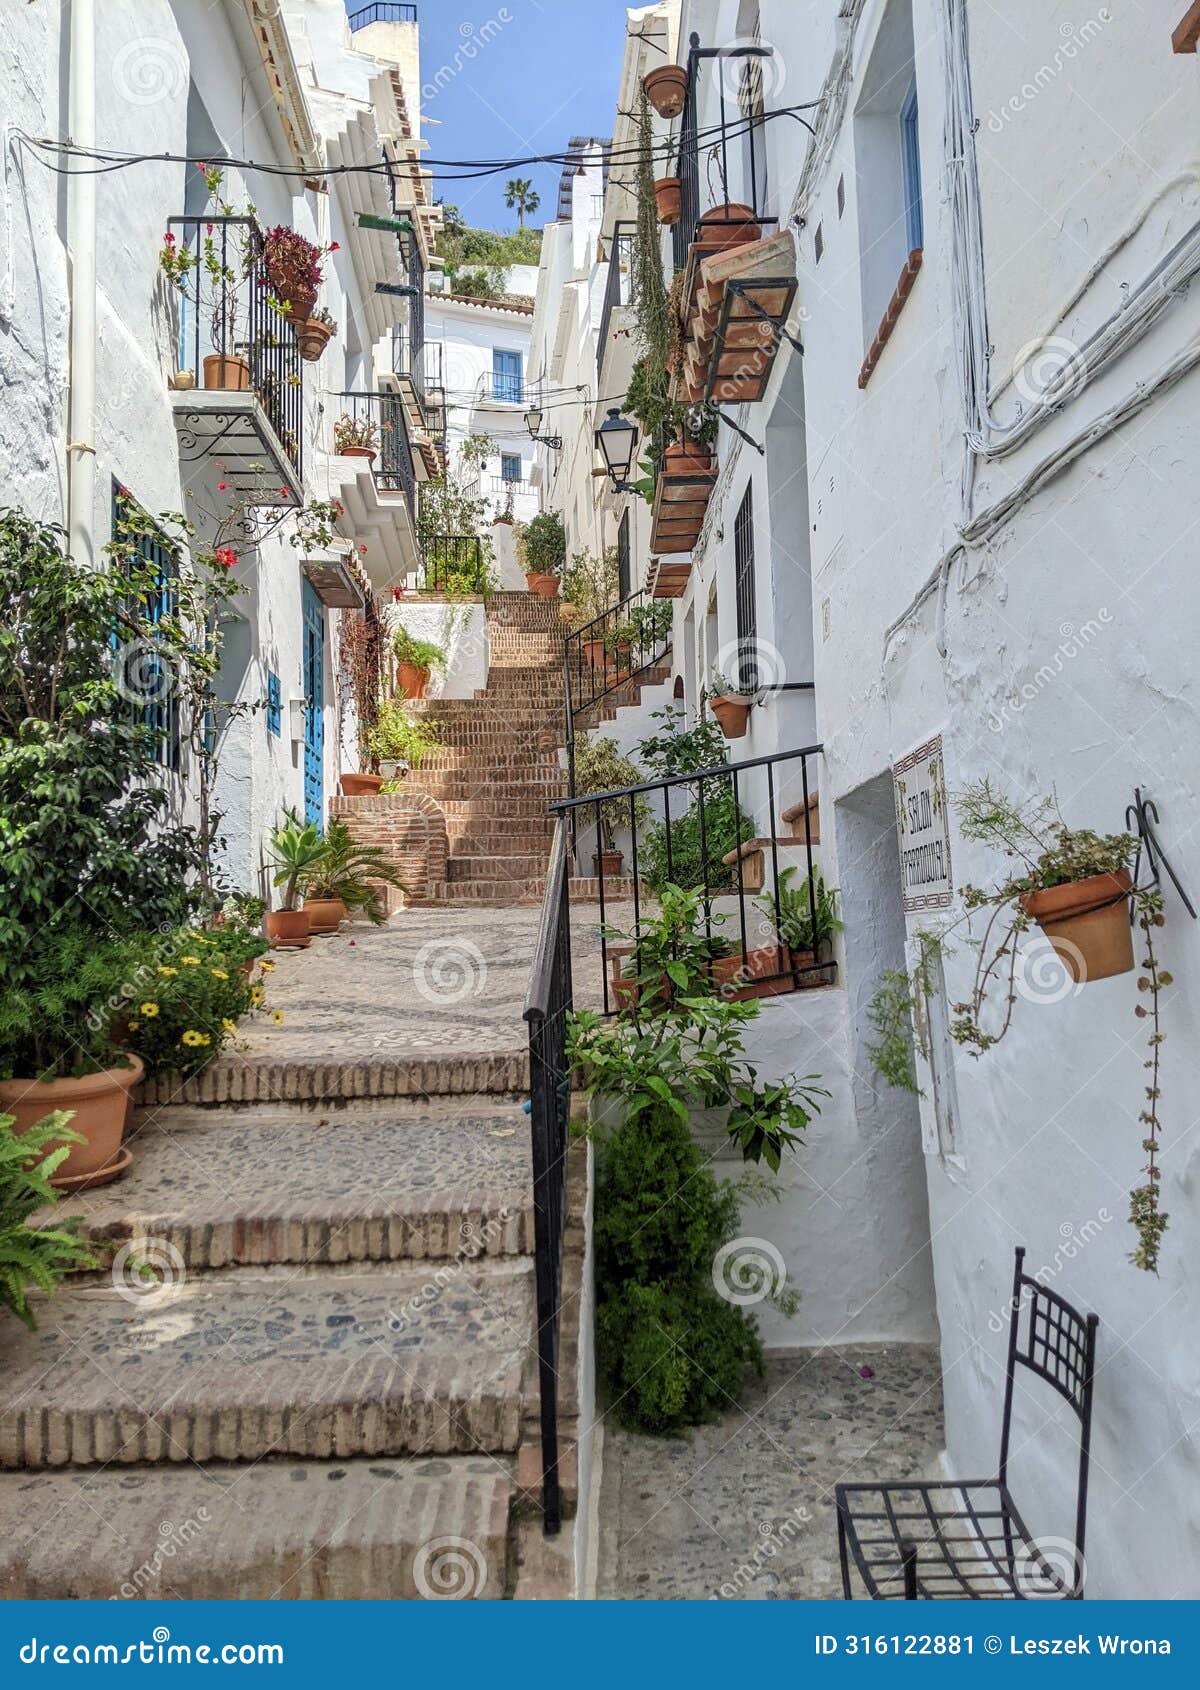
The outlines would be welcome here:
<svg viewBox="0 0 1200 1690">
<path fill-rule="evenodd" d="M 127 1142 L 123 1180 L 39 1220 L 78 1215 L 96 1244 L 159 1240 L 188 1273 L 532 1254 L 519 1105 L 362 1102 L 325 1122 L 287 1104 L 159 1109 Z"/>
</svg>

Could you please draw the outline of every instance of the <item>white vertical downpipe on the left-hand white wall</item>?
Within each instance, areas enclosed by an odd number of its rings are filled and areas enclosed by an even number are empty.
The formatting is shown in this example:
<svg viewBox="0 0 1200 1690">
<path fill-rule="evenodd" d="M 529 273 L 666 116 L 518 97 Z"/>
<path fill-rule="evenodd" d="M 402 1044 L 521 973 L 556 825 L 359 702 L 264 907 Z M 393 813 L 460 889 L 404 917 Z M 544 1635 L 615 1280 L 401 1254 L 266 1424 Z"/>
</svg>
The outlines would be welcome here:
<svg viewBox="0 0 1200 1690">
<path fill-rule="evenodd" d="M 78 147 L 96 145 L 95 0 L 71 0 L 68 122 Z M 96 177 L 68 179 L 66 243 L 71 275 L 66 509 L 71 556 L 95 563 L 96 492 Z"/>
</svg>

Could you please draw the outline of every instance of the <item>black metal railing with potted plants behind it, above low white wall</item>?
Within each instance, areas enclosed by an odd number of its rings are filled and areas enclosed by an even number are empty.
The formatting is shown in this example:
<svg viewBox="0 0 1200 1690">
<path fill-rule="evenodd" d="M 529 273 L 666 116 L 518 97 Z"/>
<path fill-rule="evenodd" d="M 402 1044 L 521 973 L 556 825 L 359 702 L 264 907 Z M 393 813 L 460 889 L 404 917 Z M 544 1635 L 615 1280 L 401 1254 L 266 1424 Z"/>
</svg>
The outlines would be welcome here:
<svg viewBox="0 0 1200 1690">
<path fill-rule="evenodd" d="M 635 992 L 629 975 L 610 975 L 610 963 L 624 968 L 632 957 L 635 970 L 644 904 L 668 884 L 700 894 L 713 977 L 730 995 L 777 995 L 832 979 L 828 892 L 813 857 L 815 759 L 821 749 L 747 757 L 549 804 L 553 815 L 570 818 L 576 853 L 578 838 L 595 830 L 603 1014 L 627 1007 Z M 793 835 L 781 831 L 784 810 L 794 810 L 799 821 Z M 615 853 L 624 864 L 624 848 L 615 843 L 622 835 L 629 874 L 620 867 L 614 872 L 610 862 Z M 803 882 L 793 887 L 788 870 L 803 874 Z M 715 909 L 718 899 L 735 908 Z M 632 901 L 629 943 L 615 953 L 608 928 L 614 901 Z M 734 940 L 722 933 L 730 918 Z"/>
</svg>

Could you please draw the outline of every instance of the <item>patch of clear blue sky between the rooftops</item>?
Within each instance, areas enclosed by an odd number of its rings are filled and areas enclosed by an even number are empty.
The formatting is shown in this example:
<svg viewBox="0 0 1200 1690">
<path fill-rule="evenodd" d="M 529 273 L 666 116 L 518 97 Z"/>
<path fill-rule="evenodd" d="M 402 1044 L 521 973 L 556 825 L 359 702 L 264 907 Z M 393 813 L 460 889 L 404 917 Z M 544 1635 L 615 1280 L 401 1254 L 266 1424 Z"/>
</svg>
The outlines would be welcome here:
<svg viewBox="0 0 1200 1690">
<path fill-rule="evenodd" d="M 350 0 L 350 10 L 357 0 Z M 571 135 L 608 135 L 625 34 L 625 0 L 417 0 L 423 137 L 443 159 L 512 159 L 561 152 Z M 473 46 L 473 56 L 470 49 Z M 441 68 L 453 74 L 441 76 Z M 436 118 L 436 122 L 433 122 Z M 515 228 L 504 204 L 509 176 L 541 194 L 534 225 L 554 216 L 558 166 L 504 171 L 472 183 L 438 179 L 436 193 L 468 223 Z"/>
</svg>

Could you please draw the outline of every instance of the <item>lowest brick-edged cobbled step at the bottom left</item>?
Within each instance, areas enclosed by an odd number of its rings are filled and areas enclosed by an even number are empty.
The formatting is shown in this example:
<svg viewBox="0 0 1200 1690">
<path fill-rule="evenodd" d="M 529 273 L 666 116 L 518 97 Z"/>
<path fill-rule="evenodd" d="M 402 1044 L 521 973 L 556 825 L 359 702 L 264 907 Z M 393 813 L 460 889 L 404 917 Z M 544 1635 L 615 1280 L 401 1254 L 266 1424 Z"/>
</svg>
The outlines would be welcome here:
<svg viewBox="0 0 1200 1690">
<path fill-rule="evenodd" d="M 0 1599 L 497 1599 L 514 1496 L 492 1455 L 3 1474 Z"/>
</svg>

